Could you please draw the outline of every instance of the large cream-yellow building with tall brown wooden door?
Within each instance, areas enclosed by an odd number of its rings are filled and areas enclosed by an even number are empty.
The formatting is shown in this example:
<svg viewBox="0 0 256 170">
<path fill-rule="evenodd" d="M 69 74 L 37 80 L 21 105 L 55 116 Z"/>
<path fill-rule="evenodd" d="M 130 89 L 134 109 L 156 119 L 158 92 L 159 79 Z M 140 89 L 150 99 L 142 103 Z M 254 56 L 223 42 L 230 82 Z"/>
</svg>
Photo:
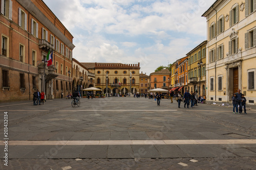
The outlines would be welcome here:
<svg viewBox="0 0 256 170">
<path fill-rule="evenodd" d="M 218 0 L 202 15 L 207 19 L 207 100 L 229 102 L 241 89 L 247 102 L 256 103 L 255 10 L 255 0 Z"/>
</svg>

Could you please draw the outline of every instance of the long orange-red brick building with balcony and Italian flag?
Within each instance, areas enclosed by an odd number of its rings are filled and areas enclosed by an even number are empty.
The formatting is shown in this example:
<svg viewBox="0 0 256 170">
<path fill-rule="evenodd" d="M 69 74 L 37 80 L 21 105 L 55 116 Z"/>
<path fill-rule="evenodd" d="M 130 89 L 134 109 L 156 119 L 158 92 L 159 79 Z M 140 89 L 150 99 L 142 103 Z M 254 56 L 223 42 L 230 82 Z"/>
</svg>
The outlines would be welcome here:
<svg viewBox="0 0 256 170">
<path fill-rule="evenodd" d="M 59 98 L 72 68 L 73 36 L 40 0 L 1 0 L 0 101 Z M 53 51 L 53 64 L 44 62 Z"/>
</svg>

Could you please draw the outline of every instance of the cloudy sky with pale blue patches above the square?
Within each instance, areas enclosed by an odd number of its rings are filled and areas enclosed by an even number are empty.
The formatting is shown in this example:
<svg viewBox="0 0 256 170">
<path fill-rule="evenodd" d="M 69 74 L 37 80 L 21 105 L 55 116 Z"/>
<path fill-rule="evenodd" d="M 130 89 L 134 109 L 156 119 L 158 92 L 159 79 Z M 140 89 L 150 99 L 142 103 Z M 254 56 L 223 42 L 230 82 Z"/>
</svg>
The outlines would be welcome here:
<svg viewBox="0 0 256 170">
<path fill-rule="evenodd" d="M 74 36 L 80 62 L 140 62 L 149 75 L 206 40 L 216 0 L 44 0 Z"/>
</svg>

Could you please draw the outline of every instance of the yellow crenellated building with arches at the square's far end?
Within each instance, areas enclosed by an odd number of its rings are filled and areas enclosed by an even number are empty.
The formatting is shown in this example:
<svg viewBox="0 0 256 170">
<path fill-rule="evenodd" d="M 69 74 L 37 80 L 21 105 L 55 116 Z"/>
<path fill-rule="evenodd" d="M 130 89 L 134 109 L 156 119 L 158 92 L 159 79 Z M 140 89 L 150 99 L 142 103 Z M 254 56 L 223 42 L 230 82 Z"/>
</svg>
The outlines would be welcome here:
<svg viewBox="0 0 256 170">
<path fill-rule="evenodd" d="M 89 71 L 95 73 L 95 87 L 106 93 L 108 76 L 108 93 L 126 94 L 139 92 L 140 63 L 82 63 Z"/>
</svg>

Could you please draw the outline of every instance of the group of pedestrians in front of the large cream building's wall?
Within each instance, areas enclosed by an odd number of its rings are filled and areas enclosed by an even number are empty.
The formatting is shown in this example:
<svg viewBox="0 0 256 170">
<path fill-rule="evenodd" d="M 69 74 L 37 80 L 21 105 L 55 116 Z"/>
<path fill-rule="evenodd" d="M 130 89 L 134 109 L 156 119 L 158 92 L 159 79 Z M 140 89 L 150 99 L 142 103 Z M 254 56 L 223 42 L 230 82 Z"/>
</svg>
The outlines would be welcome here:
<svg viewBox="0 0 256 170">
<path fill-rule="evenodd" d="M 244 114 L 247 114 L 246 113 L 246 99 L 244 97 L 244 94 L 241 93 L 240 89 L 238 89 L 238 92 L 233 94 L 232 104 L 233 104 L 233 113 L 234 114 L 243 113 L 243 108 L 244 108 Z M 234 111 L 234 109 L 236 109 L 236 112 Z"/>
</svg>

